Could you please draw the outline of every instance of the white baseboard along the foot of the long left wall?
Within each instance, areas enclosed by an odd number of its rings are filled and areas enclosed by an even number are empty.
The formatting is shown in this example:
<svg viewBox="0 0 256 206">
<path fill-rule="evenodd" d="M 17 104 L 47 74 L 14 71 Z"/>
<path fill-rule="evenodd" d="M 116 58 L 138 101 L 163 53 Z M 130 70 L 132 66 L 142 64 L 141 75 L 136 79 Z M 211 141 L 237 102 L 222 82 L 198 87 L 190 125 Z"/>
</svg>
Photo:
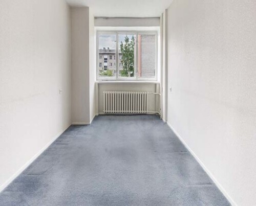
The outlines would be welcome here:
<svg viewBox="0 0 256 206">
<path fill-rule="evenodd" d="M 70 125 L 66 128 L 68 129 Z M 25 165 L 23 165 L 17 172 L 15 172 L 7 181 L 4 182 L 3 185 L 0 186 L 0 193 L 18 176 L 20 175 L 31 163 L 35 161 L 35 159 L 40 156 L 42 152 L 44 152 L 66 129 L 59 132 L 54 138 L 47 143 L 39 152 L 37 152 Z"/>
</svg>

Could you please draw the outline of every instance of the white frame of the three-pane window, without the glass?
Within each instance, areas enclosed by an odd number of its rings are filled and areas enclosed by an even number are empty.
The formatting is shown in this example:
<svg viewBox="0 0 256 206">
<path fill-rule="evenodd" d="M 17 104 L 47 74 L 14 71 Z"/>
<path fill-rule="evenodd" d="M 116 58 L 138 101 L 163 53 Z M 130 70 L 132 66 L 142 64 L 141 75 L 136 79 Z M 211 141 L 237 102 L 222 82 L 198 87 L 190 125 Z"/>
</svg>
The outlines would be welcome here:
<svg viewBox="0 0 256 206">
<path fill-rule="evenodd" d="M 99 75 L 99 69 L 97 69 L 97 80 L 100 81 L 157 81 L 158 78 L 158 31 L 153 30 L 153 31 L 141 31 L 141 30 L 97 30 L 97 45 L 96 45 L 96 64 L 99 65 L 99 35 L 104 35 L 104 34 L 115 34 L 116 35 L 116 76 L 114 77 L 100 77 Z M 135 72 L 135 77 L 119 77 L 119 34 L 134 34 L 136 36 L 136 42 L 135 42 L 135 54 L 134 54 L 134 72 Z M 155 46 L 155 77 L 138 77 L 138 35 L 155 35 L 156 36 L 156 46 Z M 113 59 L 113 58 L 112 58 Z"/>
</svg>

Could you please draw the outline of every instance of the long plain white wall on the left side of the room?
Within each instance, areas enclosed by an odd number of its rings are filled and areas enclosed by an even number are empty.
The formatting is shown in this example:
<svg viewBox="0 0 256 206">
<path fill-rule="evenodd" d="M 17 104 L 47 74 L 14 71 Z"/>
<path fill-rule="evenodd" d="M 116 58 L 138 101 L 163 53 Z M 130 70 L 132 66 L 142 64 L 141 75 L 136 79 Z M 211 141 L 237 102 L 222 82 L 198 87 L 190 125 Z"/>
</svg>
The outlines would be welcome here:
<svg viewBox="0 0 256 206">
<path fill-rule="evenodd" d="M 70 9 L 1 0 L 0 25 L 1 191 L 71 124 Z"/>
</svg>

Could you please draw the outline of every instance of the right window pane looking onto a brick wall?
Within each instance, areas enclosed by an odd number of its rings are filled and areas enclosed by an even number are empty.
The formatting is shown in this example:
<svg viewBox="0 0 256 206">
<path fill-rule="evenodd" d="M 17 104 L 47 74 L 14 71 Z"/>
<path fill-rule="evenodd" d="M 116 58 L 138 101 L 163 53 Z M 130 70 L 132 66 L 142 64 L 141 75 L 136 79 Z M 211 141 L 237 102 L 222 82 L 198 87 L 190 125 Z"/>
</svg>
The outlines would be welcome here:
<svg viewBox="0 0 256 206">
<path fill-rule="evenodd" d="M 156 72 L 156 35 L 138 35 L 138 77 L 154 78 Z"/>
</svg>

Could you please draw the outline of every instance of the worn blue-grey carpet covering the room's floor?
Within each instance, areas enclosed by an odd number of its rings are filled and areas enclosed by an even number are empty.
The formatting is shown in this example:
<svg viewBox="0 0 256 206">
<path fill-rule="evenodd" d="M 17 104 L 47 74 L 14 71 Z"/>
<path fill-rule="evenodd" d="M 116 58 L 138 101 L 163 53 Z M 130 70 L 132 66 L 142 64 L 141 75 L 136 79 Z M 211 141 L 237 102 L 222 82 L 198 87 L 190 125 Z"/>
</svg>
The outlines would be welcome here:
<svg viewBox="0 0 256 206">
<path fill-rule="evenodd" d="M 157 116 L 99 116 L 61 134 L 0 205 L 230 204 Z"/>
</svg>

